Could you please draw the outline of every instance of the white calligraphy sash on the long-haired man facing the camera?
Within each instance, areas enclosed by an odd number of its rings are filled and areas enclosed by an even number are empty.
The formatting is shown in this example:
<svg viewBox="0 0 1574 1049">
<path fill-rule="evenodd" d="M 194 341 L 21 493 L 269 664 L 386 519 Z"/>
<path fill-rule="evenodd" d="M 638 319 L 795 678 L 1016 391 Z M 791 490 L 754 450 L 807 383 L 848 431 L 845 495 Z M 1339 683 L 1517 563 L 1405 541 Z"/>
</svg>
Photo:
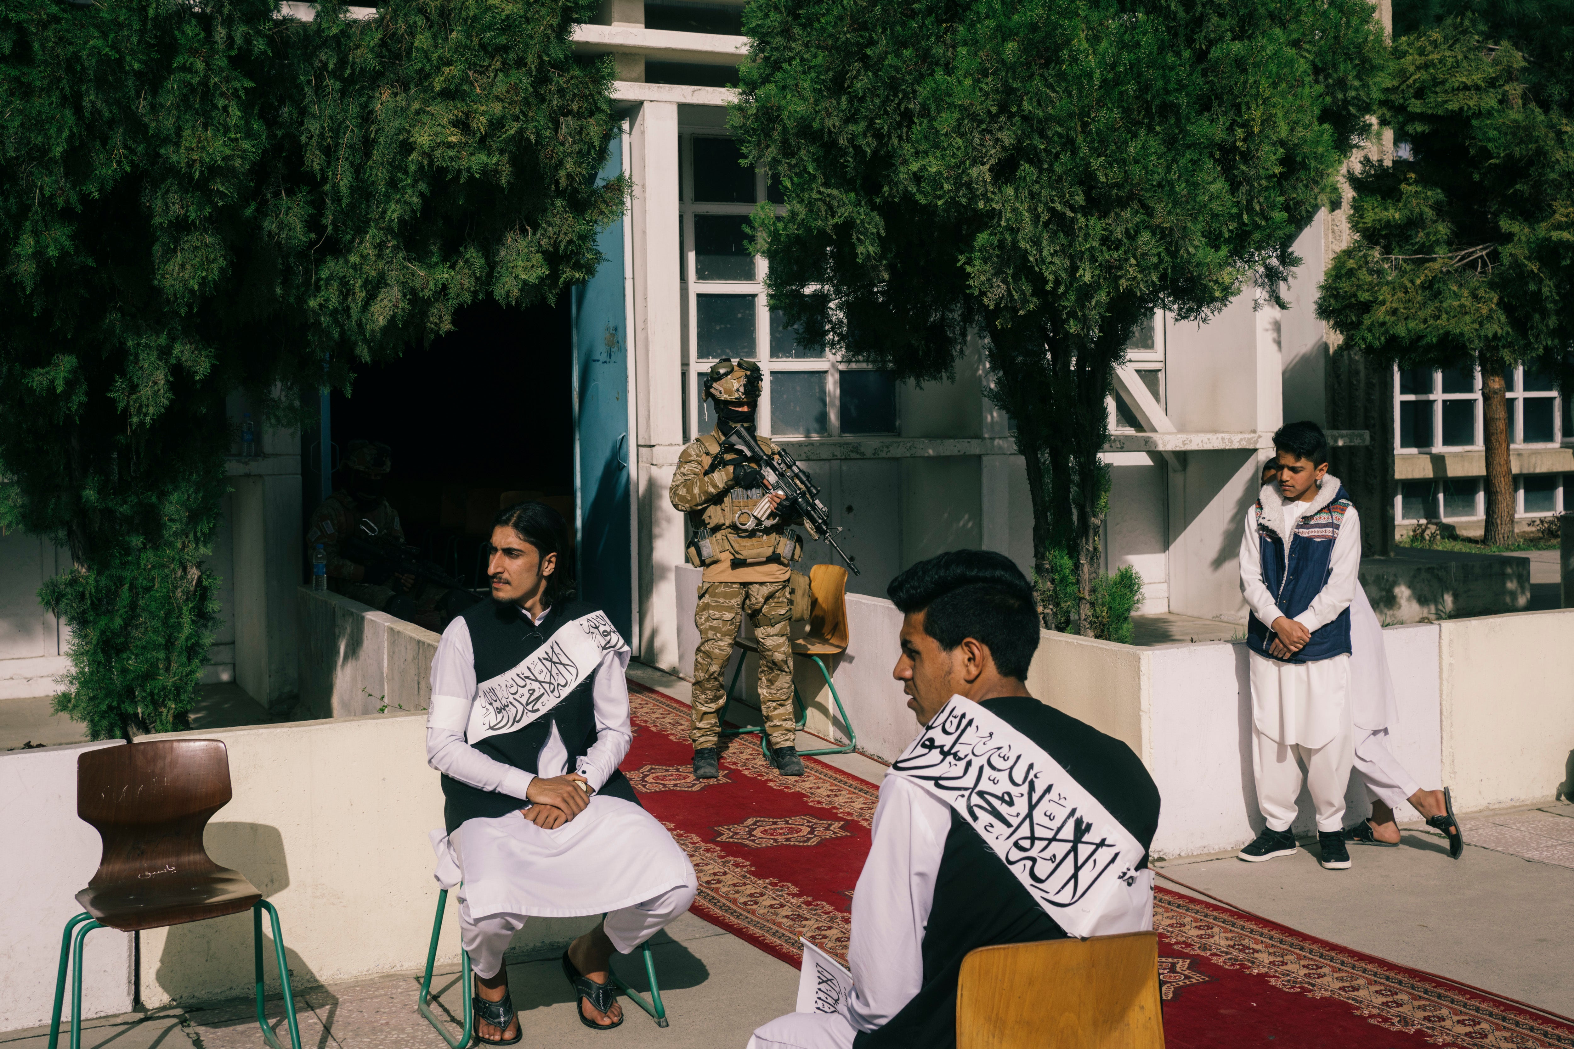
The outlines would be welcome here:
<svg viewBox="0 0 1574 1049">
<path fill-rule="evenodd" d="M 563 623 L 518 667 L 477 686 L 464 741 L 474 745 L 524 728 L 595 673 L 608 653 L 623 648 L 623 637 L 604 612 Z"/>
</svg>

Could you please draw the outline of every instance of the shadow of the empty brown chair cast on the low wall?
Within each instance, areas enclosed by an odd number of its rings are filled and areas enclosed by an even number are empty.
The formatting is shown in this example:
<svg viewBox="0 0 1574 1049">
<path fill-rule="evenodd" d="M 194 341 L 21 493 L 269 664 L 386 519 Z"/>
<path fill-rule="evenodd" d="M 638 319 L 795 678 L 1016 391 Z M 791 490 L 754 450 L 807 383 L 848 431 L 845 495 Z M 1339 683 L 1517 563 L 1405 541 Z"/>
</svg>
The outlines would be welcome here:
<svg viewBox="0 0 1574 1049">
<path fill-rule="evenodd" d="M 209 823 L 203 834 L 208 856 L 220 867 L 241 871 L 257 885 L 263 898 L 290 887 L 290 865 L 285 859 L 283 835 L 277 827 L 258 823 Z M 279 909 L 279 926 L 285 936 L 285 961 L 291 988 L 320 986 L 310 966 L 290 950 L 290 909 Z M 263 915 L 263 974 L 269 994 L 279 992 L 279 964 L 268 915 Z M 170 926 L 164 937 L 154 983 L 175 1002 L 212 1002 L 241 997 L 253 988 L 252 912 L 231 914 L 208 922 Z M 332 1005 L 338 1000 L 334 996 Z M 299 1005 L 299 1002 L 297 1002 Z"/>
</svg>

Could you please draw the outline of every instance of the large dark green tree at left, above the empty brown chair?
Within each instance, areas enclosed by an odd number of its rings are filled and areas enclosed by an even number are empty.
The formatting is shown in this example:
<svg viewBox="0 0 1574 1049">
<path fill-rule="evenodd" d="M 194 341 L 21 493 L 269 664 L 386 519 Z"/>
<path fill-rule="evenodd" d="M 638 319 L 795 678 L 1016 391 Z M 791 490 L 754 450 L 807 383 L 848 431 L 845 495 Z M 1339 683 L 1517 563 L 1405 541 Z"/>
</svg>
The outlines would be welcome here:
<svg viewBox="0 0 1574 1049">
<path fill-rule="evenodd" d="M 578 3 L 0 0 L 0 525 L 63 541 L 57 706 L 184 725 L 212 632 L 224 399 L 301 390 L 597 264 L 609 71 Z"/>
</svg>

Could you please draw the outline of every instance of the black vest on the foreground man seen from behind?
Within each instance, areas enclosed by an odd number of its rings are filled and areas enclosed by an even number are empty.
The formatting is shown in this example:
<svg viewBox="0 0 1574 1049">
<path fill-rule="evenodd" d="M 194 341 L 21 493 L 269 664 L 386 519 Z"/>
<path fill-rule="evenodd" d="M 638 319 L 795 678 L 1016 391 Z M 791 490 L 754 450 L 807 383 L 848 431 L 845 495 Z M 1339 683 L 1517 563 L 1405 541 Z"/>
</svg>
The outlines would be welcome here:
<svg viewBox="0 0 1574 1049">
<path fill-rule="evenodd" d="M 1132 749 L 1113 736 L 1029 697 L 985 700 L 990 714 L 1059 761 L 1061 767 L 1146 849 L 1158 829 L 1158 788 Z M 957 813 L 935 878 L 924 926 L 924 985 L 885 1027 L 859 1033 L 855 1049 L 954 1049 L 957 975 L 968 951 L 995 944 L 1066 939 L 1055 918 Z"/>
</svg>

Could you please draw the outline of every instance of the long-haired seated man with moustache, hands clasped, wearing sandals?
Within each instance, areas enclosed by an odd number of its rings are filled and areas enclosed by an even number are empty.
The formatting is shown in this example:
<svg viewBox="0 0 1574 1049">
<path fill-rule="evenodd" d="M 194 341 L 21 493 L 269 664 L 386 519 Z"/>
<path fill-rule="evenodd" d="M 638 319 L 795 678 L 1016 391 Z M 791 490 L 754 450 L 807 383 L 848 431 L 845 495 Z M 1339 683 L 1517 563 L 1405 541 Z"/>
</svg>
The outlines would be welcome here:
<svg viewBox="0 0 1574 1049">
<path fill-rule="evenodd" d="M 617 766 L 633 742 L 628 645 L 573 601 L 567 527 L 521 503 L 491 535 L 491 601 L 442 632 L 431 661 L 427 761 L 442 772 L 438 882 L 460 889 L 475 974 L 475 1030 L 519 1041 L 504 951 L 526 917 L 606 920 L 563 951 L 587 1027 L 623 1022 L 612 951 L 628 953 L 688 911 L 694 868 Z"/>
</svg>

